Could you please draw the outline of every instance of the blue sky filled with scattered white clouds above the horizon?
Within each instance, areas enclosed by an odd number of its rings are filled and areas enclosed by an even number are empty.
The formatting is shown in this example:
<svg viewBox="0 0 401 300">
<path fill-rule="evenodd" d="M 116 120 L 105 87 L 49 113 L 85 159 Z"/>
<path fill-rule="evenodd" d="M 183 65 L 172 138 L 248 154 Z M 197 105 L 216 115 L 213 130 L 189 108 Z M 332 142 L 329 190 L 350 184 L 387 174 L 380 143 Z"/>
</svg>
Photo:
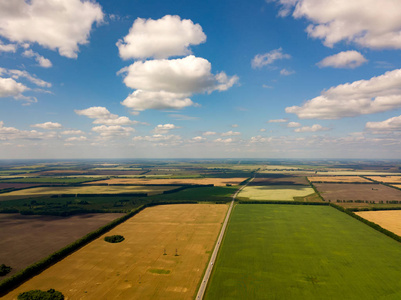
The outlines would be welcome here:
<svg viewBox="0 0 401 300">
<path fill-rule="evenodd" d="M 400 144 L 399 0 L 0 0 L 0 159 Z"/>
</svg>

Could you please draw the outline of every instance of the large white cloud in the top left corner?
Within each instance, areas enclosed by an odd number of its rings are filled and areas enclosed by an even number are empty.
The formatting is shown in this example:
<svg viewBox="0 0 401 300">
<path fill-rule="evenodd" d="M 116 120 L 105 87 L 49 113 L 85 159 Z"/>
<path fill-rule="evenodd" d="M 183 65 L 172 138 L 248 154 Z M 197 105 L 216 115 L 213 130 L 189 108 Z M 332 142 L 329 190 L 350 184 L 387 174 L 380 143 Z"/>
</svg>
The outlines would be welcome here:
<svg viewBox="0 0 401 300">
<path fill-rule="evenodd" d="M 38 43 L 76 58 L 88 43 L 94 22 L 103 21 L 99 4 L 80 0 L 1 0 L 0 35 L 18 43 Z"/>
</svg>

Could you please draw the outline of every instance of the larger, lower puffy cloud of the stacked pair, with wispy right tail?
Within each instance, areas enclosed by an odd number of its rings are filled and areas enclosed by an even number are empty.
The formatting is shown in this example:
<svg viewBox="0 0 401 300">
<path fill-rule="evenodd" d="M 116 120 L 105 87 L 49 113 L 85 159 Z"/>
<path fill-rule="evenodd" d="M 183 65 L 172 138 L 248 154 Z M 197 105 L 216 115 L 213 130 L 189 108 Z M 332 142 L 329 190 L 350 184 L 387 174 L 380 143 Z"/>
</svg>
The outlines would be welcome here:
<svg viewBox="0 0 401 300">
<path fill-rule="evenodd" d="M 173 60 L 137 61 L 121 69 L 126 86 L 136 89 L 122 104 L 134 110 L 181 109 L 194 105 L 194 93 L 224 91 L 233 86 L 237 76 L 211 73 L 211 64 L 193 55 Z"/>
</svg>

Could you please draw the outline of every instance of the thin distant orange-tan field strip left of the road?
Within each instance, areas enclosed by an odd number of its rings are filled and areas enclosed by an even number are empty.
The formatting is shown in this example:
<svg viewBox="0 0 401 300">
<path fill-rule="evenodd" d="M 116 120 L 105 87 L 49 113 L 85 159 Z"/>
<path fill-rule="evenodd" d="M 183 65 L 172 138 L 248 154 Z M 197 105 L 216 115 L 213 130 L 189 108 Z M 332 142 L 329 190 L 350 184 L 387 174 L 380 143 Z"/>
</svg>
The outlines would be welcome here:
<svg viewBox="0 0 401 300">
<path fill-rule="evenodd" d="M 214 186 L 226 186 L 227 184 L 237 185 L 247 178 L 188 178 L 188 179 L 146 179 L 146 178 L 112 178 L 96 181 L 92 184 L 134 184 L 134 185 L 157 185 L 157 184 L 213 184 Z M 91 183 L 86 183 L 91 184 Z"/>
</svg>

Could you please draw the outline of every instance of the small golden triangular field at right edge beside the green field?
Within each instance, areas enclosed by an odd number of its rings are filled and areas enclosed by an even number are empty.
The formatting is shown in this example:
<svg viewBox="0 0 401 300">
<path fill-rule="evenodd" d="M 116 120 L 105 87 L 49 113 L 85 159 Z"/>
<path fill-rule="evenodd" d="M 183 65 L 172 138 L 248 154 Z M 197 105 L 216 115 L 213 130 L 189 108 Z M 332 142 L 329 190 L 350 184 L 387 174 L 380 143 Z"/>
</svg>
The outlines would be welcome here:
<svg viewBox="0 0 401 300">
<path fill-rule="evenodd" d="M 355 213 L 401 236 L 401 210 L 360 211 Z"/>
</svg>

